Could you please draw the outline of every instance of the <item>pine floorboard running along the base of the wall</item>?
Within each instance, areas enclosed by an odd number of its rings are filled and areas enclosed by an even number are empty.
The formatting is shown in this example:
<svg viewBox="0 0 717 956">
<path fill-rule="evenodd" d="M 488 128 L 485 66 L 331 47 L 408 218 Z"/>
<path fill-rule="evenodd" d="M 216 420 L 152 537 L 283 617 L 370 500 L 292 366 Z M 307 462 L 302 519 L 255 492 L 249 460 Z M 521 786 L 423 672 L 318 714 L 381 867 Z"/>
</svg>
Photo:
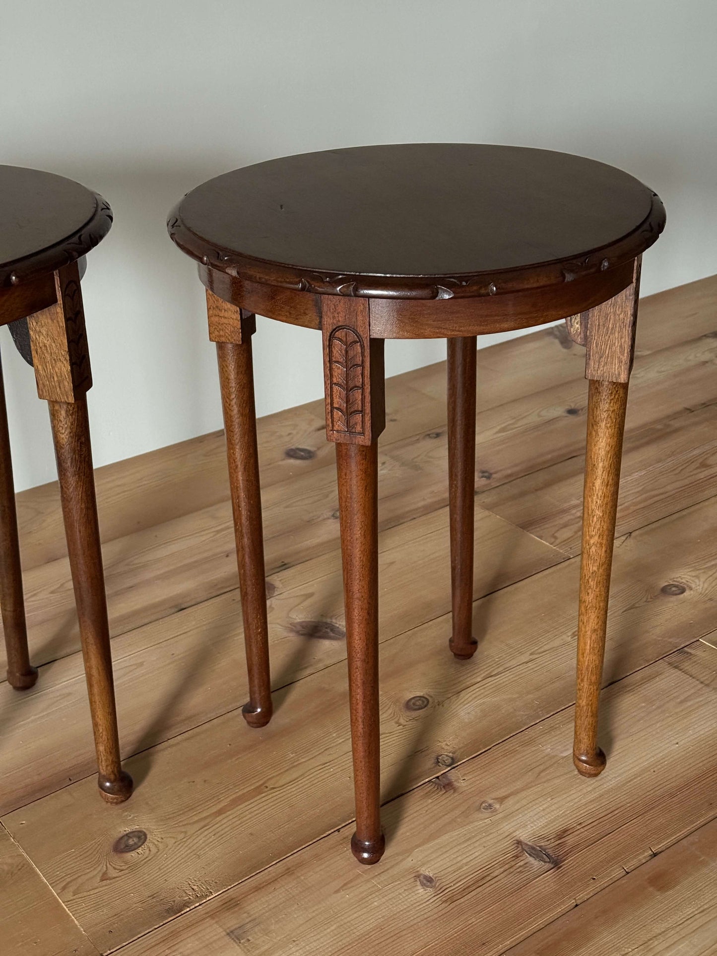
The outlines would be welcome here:
<svg viewBox="0 0 717 956">
<path fill-rule="evenodd" d="M 716 307 L 715 276 L 641 299 L 636 354 L 644 356 L 717 331 Z M 481 349 L 478 370 L 478 407 L 485 410 L 580 379 L 584 353 L 556 326 Z M 424 395 L 435 402 L 422 402 Z M 440 427 L 444 409 L 444 362 L 388 379 L 383 446 L 431 425 Z M 333 459 L 333 447 L 323 441 L 323 421 L 322 401 L 259 419 L 265 487 Z M 305 449 L 307 454 L 287 455 L 292 448 Z M 228 500 L 223 436 L 214 432 L 99 467 L 96 485 L 102 541 L 201 511 Z M 64 532 L 56 483 L 21 491 L 17 498 L 23 567 L 62 556 Z"/>
</svg>

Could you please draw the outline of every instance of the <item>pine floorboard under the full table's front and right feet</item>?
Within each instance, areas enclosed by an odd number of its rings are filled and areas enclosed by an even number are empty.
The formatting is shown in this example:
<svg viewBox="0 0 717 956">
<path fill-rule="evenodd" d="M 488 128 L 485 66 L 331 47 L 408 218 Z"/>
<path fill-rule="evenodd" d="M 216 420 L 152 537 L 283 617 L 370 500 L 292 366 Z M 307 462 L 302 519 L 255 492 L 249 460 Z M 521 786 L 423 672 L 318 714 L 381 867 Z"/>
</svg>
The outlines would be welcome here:
<svg viewBox="0 0 717 956">
<path fill-rule="evenodd" d="M 694 677 L 671 666 L 685 658 Z M 573 771 L 568 708 L 390 804 L 391 863 L 372 880 L 347 872 L 341 830 L 126 956 L 229 956 L 237 941 L 251 956 L 408 954 L 417 943 L 422 954 L 499 956 L 715 815 L 706 715 L 716 664 L 692 645 L 610 688 L 611 721 L 629 732 L 616 740 L 609 775 L 586 781 Z M 656 737 L 679 758 L 664 761 Z"/>
</svg>

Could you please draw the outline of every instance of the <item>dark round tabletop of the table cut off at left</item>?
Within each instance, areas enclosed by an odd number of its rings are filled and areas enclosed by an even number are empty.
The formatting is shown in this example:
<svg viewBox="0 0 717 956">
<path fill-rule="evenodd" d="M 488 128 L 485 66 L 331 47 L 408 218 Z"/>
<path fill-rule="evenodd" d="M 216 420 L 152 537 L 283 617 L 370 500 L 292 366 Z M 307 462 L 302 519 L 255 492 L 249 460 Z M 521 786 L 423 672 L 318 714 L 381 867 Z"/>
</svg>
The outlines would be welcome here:
<svg viewBox="0 0 717 956">
<path fill-rule="evenodd" d="M 73 180 L 0 165 L 0 287 L 80 258 L 112 225 L 112 210 Z"/>
</svg>

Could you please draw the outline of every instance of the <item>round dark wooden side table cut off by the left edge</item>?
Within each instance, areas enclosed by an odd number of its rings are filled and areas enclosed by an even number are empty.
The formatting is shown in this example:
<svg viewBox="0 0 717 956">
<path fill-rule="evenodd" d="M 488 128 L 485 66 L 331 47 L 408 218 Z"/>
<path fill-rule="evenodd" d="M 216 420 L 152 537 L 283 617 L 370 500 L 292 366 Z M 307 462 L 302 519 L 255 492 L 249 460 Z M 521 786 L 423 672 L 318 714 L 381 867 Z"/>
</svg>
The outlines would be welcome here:
<svg viewBox="0 0 717 956">
<path fill-rule="evenodd" d="M 120 767 L 107 602 L 99 546 L 95 481 L 85 395 L 92 386 L 80 288 L 80 264 L 112 225 L 97 193 L 72 180 L 0 166 L 0 325 L 11 323 L 20 352 L 34 365 L 37 394 L 53 425 L 62 514 L 87 689 L 95 731 L 99 792 L 109 803 L 132 793 Z M 20 573 L 5 391 L 0 373 L 0 606 L 8 681 L 32 687 Z"/>
</svg>

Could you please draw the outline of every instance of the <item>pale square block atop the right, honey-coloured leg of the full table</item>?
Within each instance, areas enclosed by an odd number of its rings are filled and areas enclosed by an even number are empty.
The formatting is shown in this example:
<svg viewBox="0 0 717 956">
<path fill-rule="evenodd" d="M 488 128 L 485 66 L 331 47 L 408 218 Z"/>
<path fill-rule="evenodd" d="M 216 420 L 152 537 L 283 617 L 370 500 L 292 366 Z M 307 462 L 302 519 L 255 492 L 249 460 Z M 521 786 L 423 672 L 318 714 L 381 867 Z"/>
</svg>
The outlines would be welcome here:
<svg viewBox="0 0 717 956">
<path fill-rule="evenodd" d="M 633 281 L 626 289 L 588 312 L 570 315 L 565 319 L 568 335 L 578 345 L 586 347 L 586 379 L 630 379 L 635 356 L 640 267 L 641 256 L 638 256 Z"/>
</svg>

